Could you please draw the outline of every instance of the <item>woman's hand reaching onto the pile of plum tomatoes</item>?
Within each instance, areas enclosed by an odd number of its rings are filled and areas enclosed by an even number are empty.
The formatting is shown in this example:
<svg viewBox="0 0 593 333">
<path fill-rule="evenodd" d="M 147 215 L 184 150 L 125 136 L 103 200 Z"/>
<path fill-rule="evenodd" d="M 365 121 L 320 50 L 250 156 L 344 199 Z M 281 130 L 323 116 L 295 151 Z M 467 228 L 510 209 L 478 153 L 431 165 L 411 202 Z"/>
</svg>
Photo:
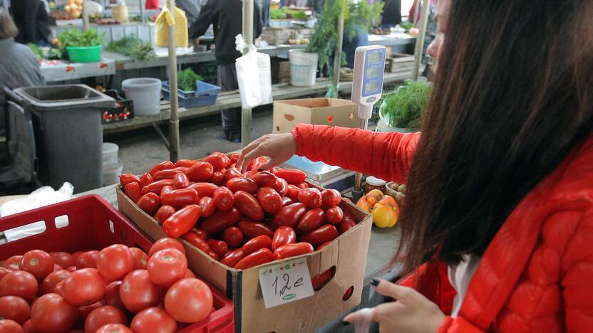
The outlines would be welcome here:
<svg viewBox="0 0 593 333">
<path fill-rule="evenodd" d="M 266 134 L 243 148 L 237 161 L 237 169 L 245 172 L 249 162 L 262 156 L 269 157 L 269 161 L 262 164 L 261 168 L 271 169 L 287 162 L 295 152 L 296 142 L 292 133 Z"/>
</svg>

